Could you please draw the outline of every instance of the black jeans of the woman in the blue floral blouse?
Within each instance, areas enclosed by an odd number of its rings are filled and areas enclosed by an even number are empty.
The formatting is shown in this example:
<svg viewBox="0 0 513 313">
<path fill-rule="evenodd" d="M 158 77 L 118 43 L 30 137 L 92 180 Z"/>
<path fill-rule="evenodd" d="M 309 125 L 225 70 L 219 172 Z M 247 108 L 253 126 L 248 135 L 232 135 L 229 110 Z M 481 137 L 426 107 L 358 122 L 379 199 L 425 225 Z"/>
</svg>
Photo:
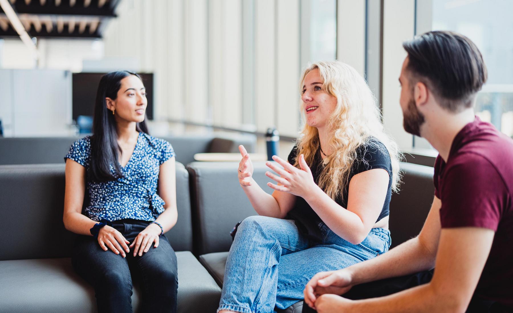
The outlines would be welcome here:
<svg viewBox="0 0 513 313">
<path fill-rule="evenodd" d="M 114 221 L 112 227 L 132 243 L 148 224 L 126 219 Z M 78 275 L 94 287 L 98 312 L 131 313 L 132 278 L 142 287 L 144 312 L 176 312 L 176 255 L 166 236 L 141 257 L 134 257 L 130 248 L 126 258 L 104 251 L 94 237 L 79 236 L 71 261 Z"/>
</svg>

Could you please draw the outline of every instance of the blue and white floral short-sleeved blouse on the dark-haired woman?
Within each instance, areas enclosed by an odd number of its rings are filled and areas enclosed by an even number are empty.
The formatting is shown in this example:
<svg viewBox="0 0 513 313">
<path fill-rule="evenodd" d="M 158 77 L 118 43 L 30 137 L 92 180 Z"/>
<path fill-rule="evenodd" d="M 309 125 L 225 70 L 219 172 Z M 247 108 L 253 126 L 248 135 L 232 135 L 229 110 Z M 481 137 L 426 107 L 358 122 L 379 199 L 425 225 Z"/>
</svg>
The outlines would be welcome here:
<svg viewBox="0 0 513 313">
<path fill-rule="evenodd" d="M 87 179 L 89 205 L 85 215 L 94 221 L 115 221 L 132 218 L 154 221 L 164 212 L 164 200 L 156 194 L 160 165 L 174 156 L 171 144 L 166 140 L 139 133 L 130 160 L 121 167 L 125 177 L 106 182 Z M 86 136 L 71 145 L 64 157 L 89 170 L 91 138 Z M 115 174 L 113 167 L 111 171 Z"/>
</svg>

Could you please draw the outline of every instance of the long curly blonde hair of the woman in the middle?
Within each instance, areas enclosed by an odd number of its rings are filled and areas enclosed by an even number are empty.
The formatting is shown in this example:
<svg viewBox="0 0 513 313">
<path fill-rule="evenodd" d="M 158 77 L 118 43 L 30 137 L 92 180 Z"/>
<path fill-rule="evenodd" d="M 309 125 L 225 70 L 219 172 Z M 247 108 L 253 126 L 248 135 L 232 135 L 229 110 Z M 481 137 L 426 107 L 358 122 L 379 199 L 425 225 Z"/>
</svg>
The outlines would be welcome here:
<svg viewBox="0 0 513 313">
<path fill-rule="evenodd" d="M 399 160 L 402 153 L 398 145 L 388 136 L 381 123 L 381 112 L 376 98 L 370 91 L 367 82 L 351 66 L 341 61 L 320 61 L 311 64 L 303 72 L 300 81 L 300 92 L 306 75 L 315 69 L 322 78 L 322 90 L 337 98 L 337 106 L 326 121 L 329 139 L 328 147 L 333 151 L 324 159 L 324 166 L 319 176 L 319 187 L 333 200 L 343 197 L 342 190 L 349 183 L 351 166 L 357 160 L 357 148 L 367 145 L 383 150 L 374 140 L 381 141 L 390 155 L 392 165 L 392 190 L 399 191 L 401 174 Z M 301 113 L 306 120 L 303 105 Z M 307 164 L 311 164 L 315 153 L 320 147 L 317 128 L 305 123 L 301 136 L 297 140 L 298 154 L 304 154 Z M 294 166 L 300 168 L 299 157 Z"/>
</svg>

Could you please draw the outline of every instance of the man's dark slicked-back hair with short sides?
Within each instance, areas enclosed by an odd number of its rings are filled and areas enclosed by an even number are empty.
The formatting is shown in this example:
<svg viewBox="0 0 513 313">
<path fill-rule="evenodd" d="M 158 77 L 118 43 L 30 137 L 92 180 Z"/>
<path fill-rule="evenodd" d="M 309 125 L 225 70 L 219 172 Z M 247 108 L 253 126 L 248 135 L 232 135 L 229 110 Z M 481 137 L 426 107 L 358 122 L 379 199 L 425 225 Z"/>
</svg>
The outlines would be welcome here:
<svg viewBox="0 0 513 313">
<path fill-rule="evenodd" d="M 432 31 L 405 41 L 403 48 L 408 53 L 406 69 L 412 86 L 423 82 L 440 105 L 453 113 L 473 105 L 487 71 L 470 39 L 455 32 Z"/>
</svg>

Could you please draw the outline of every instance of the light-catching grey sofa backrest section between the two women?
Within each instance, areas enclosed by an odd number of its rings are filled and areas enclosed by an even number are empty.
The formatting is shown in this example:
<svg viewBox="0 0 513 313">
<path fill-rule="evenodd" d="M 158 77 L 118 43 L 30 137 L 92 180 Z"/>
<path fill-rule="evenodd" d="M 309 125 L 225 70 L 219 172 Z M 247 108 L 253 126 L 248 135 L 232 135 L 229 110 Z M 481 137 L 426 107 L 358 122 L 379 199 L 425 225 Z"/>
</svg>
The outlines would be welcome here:
<svg viewBox="0 0 513 313">
<path fill-rule="evenodd" d="M 191 207 L 195 255 L 230 249 L 230 232 L 236 223 L 254 211 L 237 179 L 238 162 L 192 162 L 187 165 L 191 184 Z M 271 181 L 265 162 L 253 162 L 253 179 L 264 191 Z"/>
</svg>

